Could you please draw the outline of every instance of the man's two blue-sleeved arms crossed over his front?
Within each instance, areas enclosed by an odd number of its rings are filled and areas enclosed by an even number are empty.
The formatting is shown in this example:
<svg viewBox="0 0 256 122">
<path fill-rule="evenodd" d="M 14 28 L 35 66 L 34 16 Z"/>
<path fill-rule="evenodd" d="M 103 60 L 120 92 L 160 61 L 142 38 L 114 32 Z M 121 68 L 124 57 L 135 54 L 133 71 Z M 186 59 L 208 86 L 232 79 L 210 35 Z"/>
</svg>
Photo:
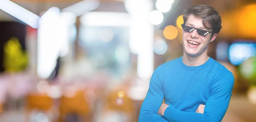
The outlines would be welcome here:
<svg viewBox="0 0 256 122">
<path fill-rule="evenodd" d="M 165 107 L 164 112 L 160 112 L 161 115 L 158 115 L 164 97 L 162 81 L 159 80 L 157 72 L 154 72 L 141 106 L 139 122 L 221 122 L 229 105 L 234 77 L 226 70 L 219 74 L 221 75 L 211 84 L 204 114 L 180 111 L 169 105 Z"/>
</svg>

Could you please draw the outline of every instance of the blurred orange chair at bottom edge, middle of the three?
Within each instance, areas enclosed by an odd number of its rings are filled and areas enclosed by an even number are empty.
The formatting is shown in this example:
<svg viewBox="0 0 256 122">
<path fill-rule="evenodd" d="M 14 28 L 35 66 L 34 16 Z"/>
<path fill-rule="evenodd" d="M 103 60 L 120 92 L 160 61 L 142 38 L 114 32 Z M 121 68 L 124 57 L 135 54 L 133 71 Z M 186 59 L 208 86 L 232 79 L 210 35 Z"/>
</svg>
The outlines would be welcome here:
<svg viewBox="0 0 256 122">
<path fill-rule="evenodd" d="M 86 101 L 84 92 L 78 90 L 71 97 L 63 95 L 60 98 L 59 122 L 91 122 L 90 105 Z"/>
</svg>

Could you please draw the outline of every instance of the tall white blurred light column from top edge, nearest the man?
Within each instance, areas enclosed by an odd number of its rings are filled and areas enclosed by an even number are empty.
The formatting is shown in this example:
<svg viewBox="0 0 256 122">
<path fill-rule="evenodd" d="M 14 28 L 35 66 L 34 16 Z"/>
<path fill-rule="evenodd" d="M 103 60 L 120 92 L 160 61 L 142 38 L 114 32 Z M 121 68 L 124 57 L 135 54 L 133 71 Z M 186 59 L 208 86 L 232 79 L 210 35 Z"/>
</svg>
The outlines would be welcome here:
<svg viewBox="0 0 256 122">
<path fill-rule="evenodd" d="M 125 9 L 131 15 L 129 49 L 138 55 L 137 75 L 139 78 L 149 79 L 154 71 L 154 26 L 148 21 L 153 1 L 125 0 Z"/>
</svg>

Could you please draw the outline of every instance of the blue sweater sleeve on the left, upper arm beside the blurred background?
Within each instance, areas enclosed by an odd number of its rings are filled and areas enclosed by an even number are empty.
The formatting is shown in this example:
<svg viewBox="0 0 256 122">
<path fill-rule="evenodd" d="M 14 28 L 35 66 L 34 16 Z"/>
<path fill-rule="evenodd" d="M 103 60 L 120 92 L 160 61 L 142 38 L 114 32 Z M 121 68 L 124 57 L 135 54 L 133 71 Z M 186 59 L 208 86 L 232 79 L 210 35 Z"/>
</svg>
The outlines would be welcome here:
<svg viewBox="0 0 256 122">
<path fill-rule="evenodd" d="M 157 69 L 151 77 L 147 95 L 141 106 L 139 122 L 168 122 L 163 116 L 157 114 L 164 98 L 163 87 L 157 75 Z"/>
</svg>

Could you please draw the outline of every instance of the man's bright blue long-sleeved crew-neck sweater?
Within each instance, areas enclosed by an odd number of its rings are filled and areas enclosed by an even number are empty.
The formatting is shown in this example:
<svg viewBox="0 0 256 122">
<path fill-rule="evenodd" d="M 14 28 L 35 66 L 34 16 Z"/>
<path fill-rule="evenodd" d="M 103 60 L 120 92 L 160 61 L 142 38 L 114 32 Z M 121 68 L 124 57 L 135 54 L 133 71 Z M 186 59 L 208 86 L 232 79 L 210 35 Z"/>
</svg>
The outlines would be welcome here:
<svg viewBox="0 0 256 122">
<path fill-rule="evenodd" d="M 189 67 L 182 57 L 157 67 L 141 106 L 139 122 L 221 122 L 234 86 L 233 74 L 212 58 Z M 165 100 L 163 116 L 157 114 Z M 195 113 L 200 104 L 204 114 Z"/>
</svg>

